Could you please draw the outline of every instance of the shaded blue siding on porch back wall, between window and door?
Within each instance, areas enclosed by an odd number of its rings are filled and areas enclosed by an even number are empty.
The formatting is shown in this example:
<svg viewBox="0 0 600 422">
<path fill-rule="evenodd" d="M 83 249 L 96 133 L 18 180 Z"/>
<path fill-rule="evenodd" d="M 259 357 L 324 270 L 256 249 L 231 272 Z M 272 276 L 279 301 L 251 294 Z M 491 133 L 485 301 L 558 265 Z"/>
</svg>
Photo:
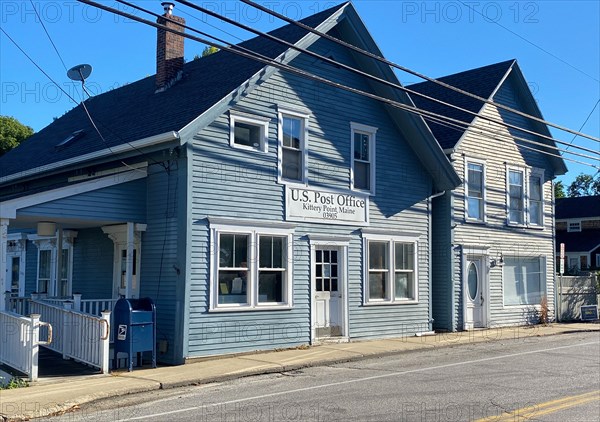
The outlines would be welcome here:
<svg viewBox="0 0 600 422">
<path fill-rule="evenodd" d="M 73 243 L 73 293 L 111 299 L 114 244 L 100 228 L 78 230 Z"/>
</svg>

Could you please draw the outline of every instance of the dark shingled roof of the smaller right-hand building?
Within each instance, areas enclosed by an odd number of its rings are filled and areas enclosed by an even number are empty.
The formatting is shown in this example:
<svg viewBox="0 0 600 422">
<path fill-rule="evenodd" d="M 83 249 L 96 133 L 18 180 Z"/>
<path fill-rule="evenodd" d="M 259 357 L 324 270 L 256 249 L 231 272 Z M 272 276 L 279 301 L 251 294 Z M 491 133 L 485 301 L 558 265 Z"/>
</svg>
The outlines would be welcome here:
<svg viewBox="0 0 600 422">
<path fill-rule="evenodd" d="M 506 72 L 508 72 L 514 63 L 515 60 L 507 60 L 505 62 L 444 76 L 438 78 L 438 80 L 480 97 L 490 98 L 506 75 Z M 479 113 L 483 106 L 481 101 L 429 81 L 408 85 L 407 88 L 474 113 Z M 469 124 L 475 118 L 472 114 L 428 100 L 419 95 L 412 94 L 411 98 L 418 108 L 433 113 L 468 122 Z M 426 121 L 442 149 L 454 148 L 464 133 L 464 130 L 462 129 L 443 126 L 428 120 Z"/>
</svg>

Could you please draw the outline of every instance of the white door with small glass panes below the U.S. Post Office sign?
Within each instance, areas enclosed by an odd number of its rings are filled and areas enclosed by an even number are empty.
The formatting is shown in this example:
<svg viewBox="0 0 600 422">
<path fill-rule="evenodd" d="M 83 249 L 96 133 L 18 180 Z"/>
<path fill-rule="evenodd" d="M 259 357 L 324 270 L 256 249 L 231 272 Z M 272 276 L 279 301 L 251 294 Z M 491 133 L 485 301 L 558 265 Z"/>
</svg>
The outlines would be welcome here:
<svg viewBox="0 0 600 422">
<path fill-rule="evenodd" d="M 342 252 L 336 247 L 318 246 L 314 262 L 315 337 L 335 337 L 343 333 Z"/>
</svg>

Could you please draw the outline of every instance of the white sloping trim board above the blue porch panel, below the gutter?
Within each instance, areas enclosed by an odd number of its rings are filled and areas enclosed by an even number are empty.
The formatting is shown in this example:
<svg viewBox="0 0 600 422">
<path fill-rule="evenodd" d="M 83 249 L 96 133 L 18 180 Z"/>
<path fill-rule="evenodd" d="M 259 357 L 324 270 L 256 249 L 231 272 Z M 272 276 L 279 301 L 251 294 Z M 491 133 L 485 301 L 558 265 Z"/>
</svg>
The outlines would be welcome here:
<svg viewBox="0 0 600 422">
<path fill-rule="evenodd" d="M 57 199 L 67 198 L 69 196 L 78 195 L 109 186 L 119 185 L 121 183 L 143 179 L 147 175 L 148 172 L 145 169 L 139 169 L 11 199 L 9 201 L 2 202 L 2 206 L 0 207 L 0 217 L 14 219 L 17 218 L 17 210 L 22 208 L 43 204 L 44 202 L 55 201 Z"/>
</svg>

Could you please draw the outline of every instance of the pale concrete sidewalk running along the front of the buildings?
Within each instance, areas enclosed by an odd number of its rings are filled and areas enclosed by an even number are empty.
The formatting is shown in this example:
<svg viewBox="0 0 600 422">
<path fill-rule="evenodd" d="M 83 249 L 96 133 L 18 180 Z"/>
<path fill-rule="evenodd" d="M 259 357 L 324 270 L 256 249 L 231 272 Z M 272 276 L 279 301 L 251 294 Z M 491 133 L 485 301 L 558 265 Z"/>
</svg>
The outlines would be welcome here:
<svg viewBox="0 0 600 422">
<path fill-rule="evenodd" d="M 251 375 L 285 372 L 309 366 L 416 352 L 436 347 L 497 340 L 519 340 L 572 332 L 598 331 L 599 324 L 552 324 L 401 337 L 308 348 L 259 352 L 192 361 L 186 365 L 118 371 L 111 375 L 41 379 L 30 387 L 0 390 L 0 417 L 30 419 L 63 413 L 95 400 L 158 389 L 225 381 Z"/>
</svg>

